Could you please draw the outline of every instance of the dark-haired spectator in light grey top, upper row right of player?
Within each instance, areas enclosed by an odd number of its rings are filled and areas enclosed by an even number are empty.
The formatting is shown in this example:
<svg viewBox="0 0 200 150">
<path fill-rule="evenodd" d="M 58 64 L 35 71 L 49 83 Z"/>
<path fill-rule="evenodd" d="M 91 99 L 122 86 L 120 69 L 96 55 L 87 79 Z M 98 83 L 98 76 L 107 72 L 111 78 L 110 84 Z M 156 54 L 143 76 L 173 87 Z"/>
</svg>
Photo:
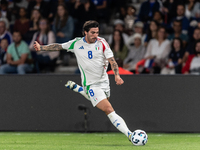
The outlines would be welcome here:
<svg viewBox="0 0 200 150">
<path fill-rule="evenodd" d="M 125 32 L 128 35 L 133 34 L 133 27 L 136 20 L 135 13 L 136 13 L 136 8 L 134 6 L 127 7 L 127 15 L 124 18 L 124 24 L 125 24 Z"/>
</svg>

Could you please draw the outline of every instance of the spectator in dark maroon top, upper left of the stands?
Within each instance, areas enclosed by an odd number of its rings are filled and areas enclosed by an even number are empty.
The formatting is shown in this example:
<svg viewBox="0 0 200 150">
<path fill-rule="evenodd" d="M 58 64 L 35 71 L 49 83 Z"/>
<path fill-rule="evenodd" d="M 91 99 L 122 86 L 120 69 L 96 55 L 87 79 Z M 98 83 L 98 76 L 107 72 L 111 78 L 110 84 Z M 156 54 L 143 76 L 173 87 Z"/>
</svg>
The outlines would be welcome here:
<svg viewBox="0 0 200 150">
<path fill-rule="evenodd" d="M 23 39 L 26 39 L 26 33 L 29 31 L 30 20 L 27 18 L 27 12 L 25 8 L 19 9 L 19 19 L 15 21 L 14 31 L 19 31 Z"/>
</svg>

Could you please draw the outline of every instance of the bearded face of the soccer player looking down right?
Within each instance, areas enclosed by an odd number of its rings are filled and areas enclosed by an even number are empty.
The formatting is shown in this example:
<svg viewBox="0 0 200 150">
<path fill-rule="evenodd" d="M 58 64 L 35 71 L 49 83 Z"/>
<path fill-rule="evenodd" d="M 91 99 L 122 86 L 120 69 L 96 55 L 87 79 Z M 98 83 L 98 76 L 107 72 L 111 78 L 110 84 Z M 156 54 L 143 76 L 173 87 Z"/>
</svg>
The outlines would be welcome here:
<svg viewBox="0 0 200 150">
<path fill-rule="evenodd" d="M 85 31 L 85 38 L 88 43 L 94 43 L 99 35 L 99 28 L 91 28 L 88 32 Z"/>
</svg>

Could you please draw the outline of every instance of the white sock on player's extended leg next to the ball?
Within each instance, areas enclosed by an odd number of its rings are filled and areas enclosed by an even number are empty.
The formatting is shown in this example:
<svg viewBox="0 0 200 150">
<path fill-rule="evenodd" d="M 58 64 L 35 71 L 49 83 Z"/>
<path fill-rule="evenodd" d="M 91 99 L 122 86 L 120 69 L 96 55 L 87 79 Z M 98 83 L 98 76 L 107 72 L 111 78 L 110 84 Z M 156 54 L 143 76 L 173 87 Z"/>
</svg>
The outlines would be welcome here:
<svg viewBox="0 0 200 150">
<path fill-rule="evenodd" d="M 124 133 L 127 137 L 129 137 L 131 131 L 128 129 L 124 119 L 122 119 L 119 115 L 115 113 L 115 111 L 108 114 L 108 118 L 112 122 L 112 124 L 122 133 Z"/>
</svg>

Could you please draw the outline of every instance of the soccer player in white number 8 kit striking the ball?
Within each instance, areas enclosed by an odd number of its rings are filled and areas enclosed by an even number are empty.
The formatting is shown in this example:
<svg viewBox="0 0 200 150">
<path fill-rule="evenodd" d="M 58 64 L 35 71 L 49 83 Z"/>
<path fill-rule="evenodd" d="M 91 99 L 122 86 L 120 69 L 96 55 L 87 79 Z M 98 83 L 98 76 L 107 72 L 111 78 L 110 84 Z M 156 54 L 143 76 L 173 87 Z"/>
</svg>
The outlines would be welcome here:
<svg viewBox="0 0 200 150">
<path fill-rule="evenodd" d="M 81 72 L 82 86 L 73 81 L 68 81 L 65 86 L 75 92 L 79 92 L 90 100 L 94 107 L 105 112 L 112 124 L 130 140 L 132 132 L 109 102 L 110 85 L 106 73 L 108 62 L 111 64 L 115 74 L 116 84 L 121 85 L 124 83 L 119 75 L 118 65 L 113 57 L 113 53 L 105 39 L 98 37 L 98 22 L 85 22 L 83 25 L 83 35 L 83 38 L 75 38 L 63 44 L 42 46 L 35 41 L 34 48 L 36 51 L 67 50 L 73 52 Z"/>
</svg>

